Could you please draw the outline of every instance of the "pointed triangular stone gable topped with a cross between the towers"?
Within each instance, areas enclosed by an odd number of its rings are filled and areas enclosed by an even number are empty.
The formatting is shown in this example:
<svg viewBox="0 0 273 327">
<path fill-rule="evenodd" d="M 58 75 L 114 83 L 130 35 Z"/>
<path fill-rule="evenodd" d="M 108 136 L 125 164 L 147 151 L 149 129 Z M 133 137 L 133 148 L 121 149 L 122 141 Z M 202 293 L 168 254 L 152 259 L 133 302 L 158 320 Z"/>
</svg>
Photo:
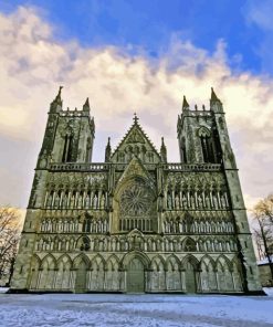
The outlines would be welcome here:
<svg viewBox="0 0 273 327">
<path fill-rule="evenodd" d="M 138 124 L 137 117 L 134 118 L 133 126 L 113 152 L 111 161 L 128 164 L 134 156 L 143 164 L 159 164 L 161 161 L 160 155 Z"/>
</svg>

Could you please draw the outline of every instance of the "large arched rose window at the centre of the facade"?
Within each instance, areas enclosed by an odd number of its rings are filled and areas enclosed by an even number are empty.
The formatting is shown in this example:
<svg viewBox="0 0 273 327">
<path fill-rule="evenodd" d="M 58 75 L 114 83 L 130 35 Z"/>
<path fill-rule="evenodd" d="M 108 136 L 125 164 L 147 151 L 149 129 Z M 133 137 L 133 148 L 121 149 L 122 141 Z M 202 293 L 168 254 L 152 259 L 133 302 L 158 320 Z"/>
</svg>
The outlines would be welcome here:
<svg viewBox="0 0 273 327">
<path fill-rule="evenodd" d="M 118 230 L 157 230 L 156 197 L 148 180 L 135 177 L 125 181 L 117 194 Z"/>
</svg>

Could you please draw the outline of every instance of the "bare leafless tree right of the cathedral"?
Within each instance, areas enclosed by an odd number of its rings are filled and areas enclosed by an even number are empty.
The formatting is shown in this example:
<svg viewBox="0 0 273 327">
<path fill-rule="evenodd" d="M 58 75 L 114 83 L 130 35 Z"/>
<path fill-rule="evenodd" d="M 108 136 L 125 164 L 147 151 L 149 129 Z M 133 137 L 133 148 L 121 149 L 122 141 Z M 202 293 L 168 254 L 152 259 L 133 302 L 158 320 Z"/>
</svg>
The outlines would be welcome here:
<svg viewBox="0 0 273 327">
<path fill-rule="evenodd" d="M 259 256 L 260 260 L 267 260 L 273 283 L 273 194 L 260 200 L 254 205 L 253 218 L 256 222 L 253 230 Z"/>
</svg>

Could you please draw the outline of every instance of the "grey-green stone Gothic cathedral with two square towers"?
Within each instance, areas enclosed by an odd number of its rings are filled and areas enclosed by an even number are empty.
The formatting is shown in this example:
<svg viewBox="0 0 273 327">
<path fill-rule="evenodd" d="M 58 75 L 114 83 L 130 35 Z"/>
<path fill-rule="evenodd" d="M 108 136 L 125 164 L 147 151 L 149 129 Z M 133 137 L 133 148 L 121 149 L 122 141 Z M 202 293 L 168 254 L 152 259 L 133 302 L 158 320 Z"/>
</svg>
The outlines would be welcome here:
<svg viewBox="0 0 273 327">
<path fill-rule="evenodd" d="M 153 145 L 135 115 L 119 145 L 92 162 L 88 98 L 50 105 L 12 292 L 261 293 L 221 101 L 183 97 L 180 162 Z"/>
</svg>

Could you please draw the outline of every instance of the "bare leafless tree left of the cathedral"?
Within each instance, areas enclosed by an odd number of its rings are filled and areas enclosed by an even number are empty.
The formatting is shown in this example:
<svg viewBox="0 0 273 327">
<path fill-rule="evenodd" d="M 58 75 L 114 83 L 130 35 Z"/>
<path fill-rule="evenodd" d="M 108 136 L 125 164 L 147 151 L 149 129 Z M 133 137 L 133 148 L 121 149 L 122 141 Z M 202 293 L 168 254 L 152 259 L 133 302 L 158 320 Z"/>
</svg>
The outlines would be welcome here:
<svg viewBox="0 0 273 327">
<path fill-rule="evenodd" d="M 0 208 L 0 281 L 9 282 L 20 240 L 20 212 Z"/>
</svg>

